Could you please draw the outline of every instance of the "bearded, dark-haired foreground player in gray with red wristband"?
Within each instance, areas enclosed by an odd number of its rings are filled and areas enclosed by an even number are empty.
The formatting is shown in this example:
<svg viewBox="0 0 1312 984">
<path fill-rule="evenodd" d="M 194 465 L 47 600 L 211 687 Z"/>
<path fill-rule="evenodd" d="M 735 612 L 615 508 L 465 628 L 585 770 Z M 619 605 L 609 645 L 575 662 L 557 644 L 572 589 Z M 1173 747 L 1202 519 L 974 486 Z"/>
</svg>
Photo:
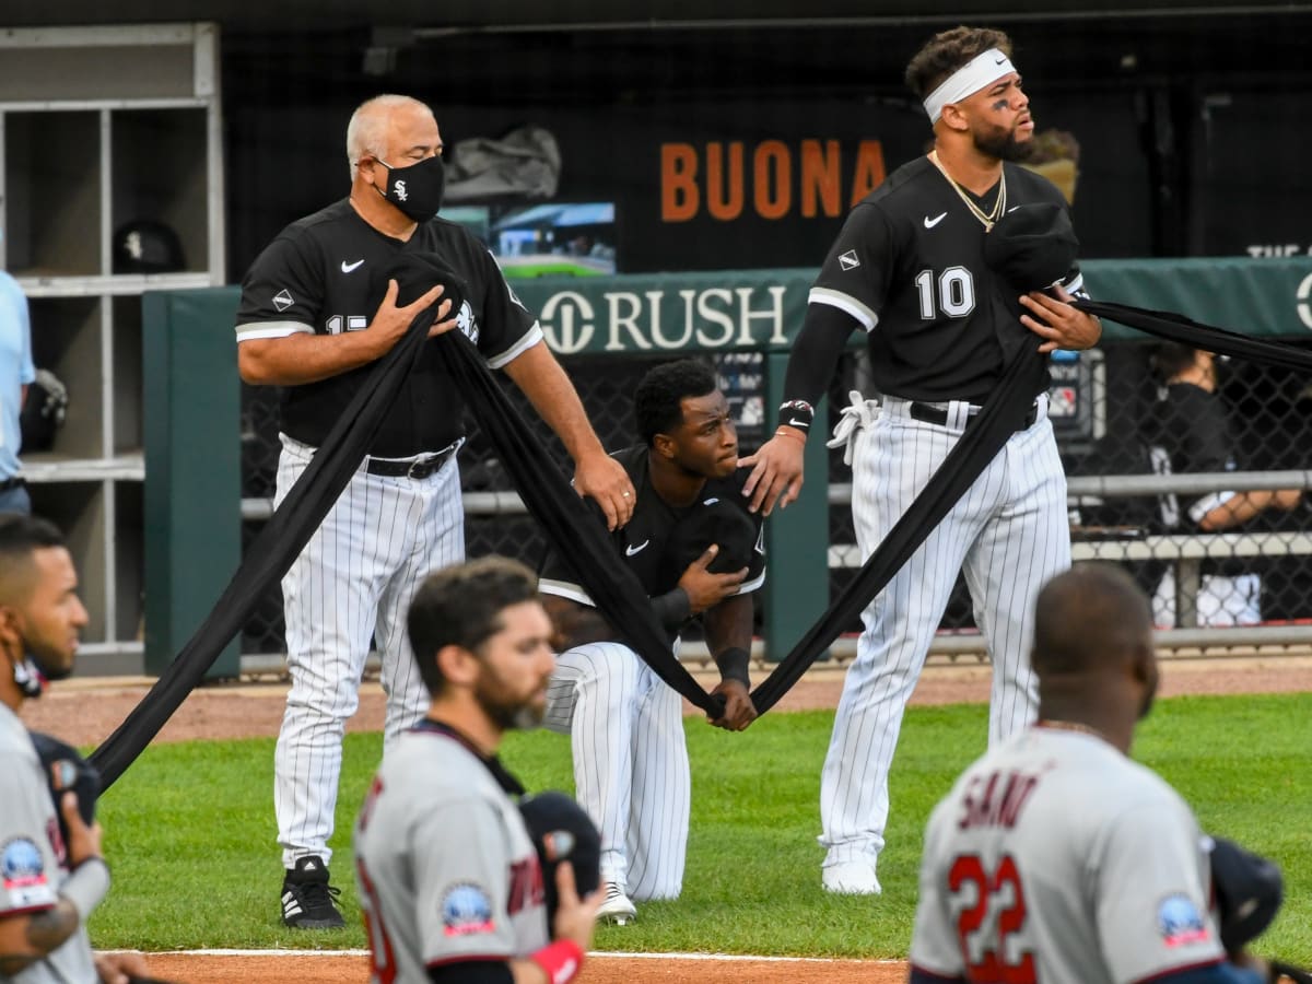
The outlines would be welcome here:
<svg viewBox="0 0 1312 984">
<path fill-rule="evenodd" d="M 601 895 L 580 900 L 562 865 L 547 925 L 538 853 L 508 795 L 523 790 L 496 757 L 546 706 L 555 660 L 537 577 L 504 558 L 438 571 L 415 594 L 409 635 L 428 716 L 383 761 L 354 830 L 370 980 L 568 984 Z"/>
</svg>

